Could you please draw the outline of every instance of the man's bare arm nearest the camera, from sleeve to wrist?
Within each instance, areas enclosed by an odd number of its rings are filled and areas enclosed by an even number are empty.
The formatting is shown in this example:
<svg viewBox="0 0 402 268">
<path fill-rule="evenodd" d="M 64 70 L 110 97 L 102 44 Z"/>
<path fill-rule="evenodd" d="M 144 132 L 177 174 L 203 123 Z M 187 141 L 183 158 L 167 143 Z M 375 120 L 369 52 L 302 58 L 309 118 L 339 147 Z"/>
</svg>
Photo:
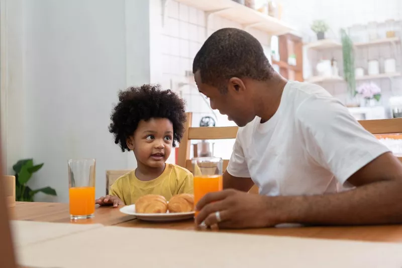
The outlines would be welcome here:
<svg viewBox="0 0 402 268">
<path fill-rule="evenodd" d="M 323 196 L 278 197 L 279 222 L 363 225 L 402 223 L 402 164 L 384 153 L 354 173 L 356 189 Z M 268 207 L 272 205 L 267 204 Z M 269 213 L 269 212 L 268 212 Z M 269 215 L 266 213 L 267 219 Z"/>
</svg>

